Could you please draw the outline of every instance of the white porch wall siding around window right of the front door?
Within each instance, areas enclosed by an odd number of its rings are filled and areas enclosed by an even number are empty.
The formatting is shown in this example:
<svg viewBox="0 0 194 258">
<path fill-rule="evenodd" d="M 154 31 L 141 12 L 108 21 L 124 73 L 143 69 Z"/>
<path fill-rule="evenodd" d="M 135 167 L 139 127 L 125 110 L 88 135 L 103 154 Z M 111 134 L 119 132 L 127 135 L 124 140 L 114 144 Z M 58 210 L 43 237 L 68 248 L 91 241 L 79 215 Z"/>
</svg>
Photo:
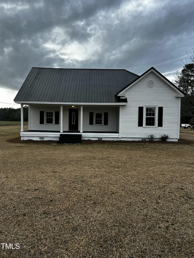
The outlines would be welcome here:
<svg viewBox="0 0 194 258">
<path fill-rule="evenodd" d="M 89 125 L 89 112 L 104 113 L 108 112 L 108 125 Z M 83 107 L 83 131 L 104 131 L 115 132 L 116 131 L 116 112 L 117 107 Z M 102 117 L 103 119 L 103 117 Z"/>
</svg>

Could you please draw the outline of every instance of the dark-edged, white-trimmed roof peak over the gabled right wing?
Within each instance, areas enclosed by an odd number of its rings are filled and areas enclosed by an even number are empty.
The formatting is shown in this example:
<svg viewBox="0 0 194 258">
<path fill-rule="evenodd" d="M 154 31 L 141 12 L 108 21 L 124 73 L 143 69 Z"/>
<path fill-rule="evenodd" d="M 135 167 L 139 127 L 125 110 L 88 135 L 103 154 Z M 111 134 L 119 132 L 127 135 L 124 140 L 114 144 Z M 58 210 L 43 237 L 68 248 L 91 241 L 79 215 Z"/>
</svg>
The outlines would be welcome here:
<svg viewBox="0 0 194 258">
<path fill-rule="evenodd" d="M 151 67 L 149 70 L 147 70 L 145 73 L 140 75 L 138 78 L 136 78 L 134 81 L 129 83 L 126 87 L 124 87 L 122 90 L 117 92 L 116 96 L 121 96 L 124 94 L 125 90 L 128 90 L 130 87 L 132 87 L 135 83 L 137 83 L 139 80 L 141 80 L 143 77 L 145 77 L 147 74 L 153 72 L 158 76 L 161 80 L 163 80 L 166 84 L 168 84 L 173 90 L 176 91 L 176 93 L 180 96 L 184 96 L 184 93 L 182 90 L 180 90 L 178 87 L 176 87 L 171 81 L 169 81 L 165 76 L 163 76 L 159 71 L 157 71 L 154 67 Z"/>
</svg>

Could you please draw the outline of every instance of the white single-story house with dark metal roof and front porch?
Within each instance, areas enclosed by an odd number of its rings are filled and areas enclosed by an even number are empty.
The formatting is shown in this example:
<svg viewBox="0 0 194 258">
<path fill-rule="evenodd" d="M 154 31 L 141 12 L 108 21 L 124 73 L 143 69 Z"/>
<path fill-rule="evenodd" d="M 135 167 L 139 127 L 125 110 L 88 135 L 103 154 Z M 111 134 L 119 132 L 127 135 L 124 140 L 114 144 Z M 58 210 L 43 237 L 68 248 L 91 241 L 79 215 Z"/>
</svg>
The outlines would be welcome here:
<svg viewBox="0 0 194 258">
<path fill-rule="evenodd" d="M 151 67 L 125 69 L 32 67 L 14 101 L 21 104 L 22 140 L 145 140 L 168 134 L 178 141 L 184 93 Z M 23 129 L 28 105 L 28 130 Z"/>
</svg>

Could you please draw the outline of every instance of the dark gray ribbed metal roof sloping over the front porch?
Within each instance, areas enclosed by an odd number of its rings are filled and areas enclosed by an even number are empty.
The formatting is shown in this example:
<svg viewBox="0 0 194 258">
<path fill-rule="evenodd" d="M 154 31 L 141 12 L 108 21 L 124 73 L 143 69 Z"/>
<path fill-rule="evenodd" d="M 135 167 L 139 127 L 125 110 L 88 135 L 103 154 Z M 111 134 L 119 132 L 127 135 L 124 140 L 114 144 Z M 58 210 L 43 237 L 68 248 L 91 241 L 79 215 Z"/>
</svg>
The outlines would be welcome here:
<svg viewBox="0 0 194 258">
<path fill-rule="evenodd" d="M 113 103 L 138 77 L 124 69 L 32 67 L 14 101 Z"/>
</svg>

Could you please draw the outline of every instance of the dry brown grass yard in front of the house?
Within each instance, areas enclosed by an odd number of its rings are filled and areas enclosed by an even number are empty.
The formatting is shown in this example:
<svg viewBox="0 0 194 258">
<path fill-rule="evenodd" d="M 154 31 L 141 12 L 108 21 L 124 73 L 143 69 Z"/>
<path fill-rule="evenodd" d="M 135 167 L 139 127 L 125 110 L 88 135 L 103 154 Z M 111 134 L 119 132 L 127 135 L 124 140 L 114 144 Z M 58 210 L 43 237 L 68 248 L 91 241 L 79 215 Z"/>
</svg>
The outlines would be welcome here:
<svg viewBox="0 0 194 258">
<path fill-rule="evenodd" d="M 0 128 L 0 257 L 194 257 L 194 131 L 52 145 Z"/>
</svg>

